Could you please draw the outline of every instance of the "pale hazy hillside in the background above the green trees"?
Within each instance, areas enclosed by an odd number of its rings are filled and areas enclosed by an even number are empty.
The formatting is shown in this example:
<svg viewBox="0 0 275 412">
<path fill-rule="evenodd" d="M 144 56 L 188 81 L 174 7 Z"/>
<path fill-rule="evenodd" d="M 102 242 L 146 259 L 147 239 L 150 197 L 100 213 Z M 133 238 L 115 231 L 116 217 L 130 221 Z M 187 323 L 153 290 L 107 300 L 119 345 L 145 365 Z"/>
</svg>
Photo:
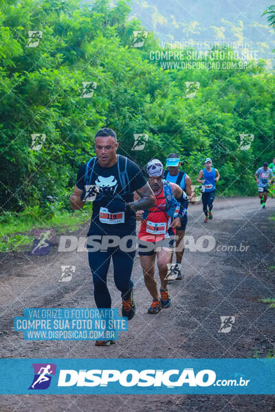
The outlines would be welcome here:
<svg viewBox="0 0 275 412">
<path fill-rule="evenodd" d="M 270 0 L 261 0 L 248 7 L 247 0 L 188 1 L 132 0 L 132 16 L 141 16 L 142 23 L 154 30 L 164 42 L 212 41 L 240 42 L 256 51 L 274 69 L 272 49 L 275 40 L 263 11 Z M 274 6 L 269 9 L 269 21 L 274 19 Z M 239 53 L 241 54 L 241 46 Z"/>
</svg>

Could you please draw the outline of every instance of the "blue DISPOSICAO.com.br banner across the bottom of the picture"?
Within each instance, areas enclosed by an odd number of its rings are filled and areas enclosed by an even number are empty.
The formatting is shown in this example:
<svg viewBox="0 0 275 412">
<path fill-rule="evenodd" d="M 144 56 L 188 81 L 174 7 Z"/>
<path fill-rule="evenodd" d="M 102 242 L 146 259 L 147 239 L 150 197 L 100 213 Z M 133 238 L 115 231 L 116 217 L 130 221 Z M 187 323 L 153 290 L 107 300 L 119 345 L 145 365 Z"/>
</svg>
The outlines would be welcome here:
<svg viewBox="0 0 275 412">
<path fill-rule="evenodd" d="M 1 394 L 274 394 L 275 359 L 0 359 Z"/>
</svg>

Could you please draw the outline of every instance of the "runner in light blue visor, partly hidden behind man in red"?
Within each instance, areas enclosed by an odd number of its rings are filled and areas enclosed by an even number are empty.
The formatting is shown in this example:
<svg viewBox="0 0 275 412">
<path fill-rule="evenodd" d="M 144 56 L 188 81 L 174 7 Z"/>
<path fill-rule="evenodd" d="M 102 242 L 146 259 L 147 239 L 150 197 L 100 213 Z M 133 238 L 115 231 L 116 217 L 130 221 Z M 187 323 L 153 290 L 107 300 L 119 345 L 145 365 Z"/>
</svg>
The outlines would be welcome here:
<svg viewBox="0 0 275 412">
<path fill-rule="evenodd" d="M 188 194 L 188 198 L 190 203 L 194 203 L 192 201 L 193 198 L 195 198 L 195 192 L 192 189 L 192 181 L 188 174 L 185 172 L 181 172 L 179 170 L 179 166 L 181 165 L 180 157 L 177 155 L 177 153 L 170 153 L 166 159 L 166 167 L 168 170 L 164 170 L 164 179 L 168 182 L 171 183 L 176 183 L 181 187 L 186 194 Z M 175 215 L 174 217 L 177 216 L 179 212 L 179 207 L 180 204 L 177 203 L 177 208 L 175 210 Z M 181 219 L 181 226 L 176 228 L 176 264 L 173 266 L 173 269 L 171 270 L 171 273 L 168 277 L 168 280 L 176 279 L 176 280 L 181 280 L 182 275 L 181 275 L 181 261 L 184 255 L 184 234 L 186 230 L 186 225 L 187 225 L 187 214 L 184 215 L 184 217 Z M 180 251 L 177 251 L 179 248 L 179 244 L 182 244 L 183 246 L 181 247 Z M 171 263 L 173 261 L 173 253 L 171 256 Z"/>
</svg>

